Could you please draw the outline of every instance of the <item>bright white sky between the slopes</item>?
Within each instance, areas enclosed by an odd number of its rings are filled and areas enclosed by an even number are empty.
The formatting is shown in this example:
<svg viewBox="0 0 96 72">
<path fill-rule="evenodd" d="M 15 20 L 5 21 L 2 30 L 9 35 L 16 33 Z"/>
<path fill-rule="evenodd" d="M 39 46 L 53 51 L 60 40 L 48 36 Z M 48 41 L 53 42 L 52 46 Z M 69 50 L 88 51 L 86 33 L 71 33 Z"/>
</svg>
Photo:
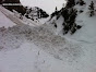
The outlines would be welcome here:
<svg viewBox="0 0 96 72">
<path fill-rule="evenodd" d="M 60 10 L 62 4 L 65 3 L 65 0 L 21 0 L 21 2 L 23 5 L 39 7 L 51 14 L 56 7 Z"/>
</svg>

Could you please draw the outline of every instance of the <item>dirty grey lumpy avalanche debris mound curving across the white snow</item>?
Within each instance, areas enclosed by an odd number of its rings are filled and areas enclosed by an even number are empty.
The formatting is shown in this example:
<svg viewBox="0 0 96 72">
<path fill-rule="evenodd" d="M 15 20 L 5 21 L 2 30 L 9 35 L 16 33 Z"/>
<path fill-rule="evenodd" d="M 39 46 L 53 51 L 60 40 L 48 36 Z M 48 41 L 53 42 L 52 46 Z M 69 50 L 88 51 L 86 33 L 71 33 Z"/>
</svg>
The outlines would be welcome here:
<svg viewBox="0 0 96 72">
<path fill-rule="evenodd" d="M 53 35 L 45 25 L 37 27 L 13 26 L 3 33 L 0 32 L 0 37 L 2 38 L 0 40 L 0 46 L 3 46 L 2 50 L 9 50 L 10 47 L 16 49 L 22 45 L 22 41 L 27 40 L 60 60 L 74 61 L 83 56 L 82 47 L 77 43 L 72 44 L 70 40 Z"/>
</svg>

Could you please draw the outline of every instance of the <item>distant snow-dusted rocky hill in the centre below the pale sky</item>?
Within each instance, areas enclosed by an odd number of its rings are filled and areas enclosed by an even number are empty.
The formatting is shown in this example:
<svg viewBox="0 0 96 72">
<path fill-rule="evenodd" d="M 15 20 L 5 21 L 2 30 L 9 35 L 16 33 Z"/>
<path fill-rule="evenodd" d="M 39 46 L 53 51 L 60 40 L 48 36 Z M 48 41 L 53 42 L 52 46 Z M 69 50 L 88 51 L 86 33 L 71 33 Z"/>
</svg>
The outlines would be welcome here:
<svg viewBox="0 0 96 72">
<path fill-rule="evenodd" d="M 41 10 L 40 8 L 34 7 L 34 8 L 26 8 L 25 16 L 34 21 L 41 17 L 48 17 L 49 15 L 47 14 L 46 11 Z"/>
</svg>

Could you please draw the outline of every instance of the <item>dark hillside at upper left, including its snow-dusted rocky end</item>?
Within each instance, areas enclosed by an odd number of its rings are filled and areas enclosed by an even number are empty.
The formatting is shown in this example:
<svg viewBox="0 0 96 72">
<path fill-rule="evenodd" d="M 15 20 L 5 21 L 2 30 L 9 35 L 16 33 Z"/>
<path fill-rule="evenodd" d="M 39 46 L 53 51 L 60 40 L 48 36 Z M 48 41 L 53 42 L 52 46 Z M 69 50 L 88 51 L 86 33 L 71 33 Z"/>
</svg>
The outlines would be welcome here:
<svg viewBox="0 0 96 72">
<path fill-rule="evenodd" d="M 46 11 L 44 11 L 43 9 L 38 7 L 31 8 L 31 7 L 22 5 L 20 0 L 1 0 L 0 3 L 5 9 L 12 12 L 16 11 L 21 15 L 26 16 L 27 19 L 31 19 L 33 21 L 49 16 Z"/>
</svg>

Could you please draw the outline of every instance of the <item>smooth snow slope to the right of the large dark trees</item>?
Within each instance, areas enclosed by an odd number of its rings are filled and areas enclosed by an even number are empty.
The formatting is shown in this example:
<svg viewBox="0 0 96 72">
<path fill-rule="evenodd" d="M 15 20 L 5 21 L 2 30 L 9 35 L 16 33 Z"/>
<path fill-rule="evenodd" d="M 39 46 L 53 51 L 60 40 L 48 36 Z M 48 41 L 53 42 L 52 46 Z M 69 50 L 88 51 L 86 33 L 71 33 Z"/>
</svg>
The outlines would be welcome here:
<svg viewBox="0 0 96 72">
<path fill-rule="evenodd" d="M 75 5 L 79 11 L 83 10 L 84 12 L 79 14 L 76 17 L 76 24 L 82 25 L 82 28 L 77 31 L 73 36 L 70 38 L 74 38 L 81 41 L 87 43 L 96 43 L 96 15 L 89 16 L 88 5 L 91 4 L 91 0 L 84 0 L 86 5 L 80 7 Z M 96 2 L 95 0 L 93 0 Z M 95 8 L 96 9 L 96 8 Z M 68 36 L 68 35 L 67 35 Z"/>
</svg>

